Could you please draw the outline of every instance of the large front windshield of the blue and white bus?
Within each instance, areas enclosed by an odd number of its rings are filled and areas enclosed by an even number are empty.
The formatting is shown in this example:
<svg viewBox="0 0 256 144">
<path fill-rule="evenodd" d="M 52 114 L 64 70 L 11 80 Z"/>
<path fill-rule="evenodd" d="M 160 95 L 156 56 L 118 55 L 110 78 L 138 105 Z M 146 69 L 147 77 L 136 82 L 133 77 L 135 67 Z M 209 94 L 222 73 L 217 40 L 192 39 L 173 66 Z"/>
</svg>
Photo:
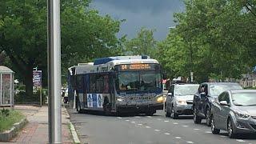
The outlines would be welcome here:
<svg viewBox="0 0 256 144">
<path fill-rule="evenodd" d="M 161 90 L 161 74 L 155 71 L 126 71 L 118 74 L 117 90 L 155 92 Z"/>
</svg>

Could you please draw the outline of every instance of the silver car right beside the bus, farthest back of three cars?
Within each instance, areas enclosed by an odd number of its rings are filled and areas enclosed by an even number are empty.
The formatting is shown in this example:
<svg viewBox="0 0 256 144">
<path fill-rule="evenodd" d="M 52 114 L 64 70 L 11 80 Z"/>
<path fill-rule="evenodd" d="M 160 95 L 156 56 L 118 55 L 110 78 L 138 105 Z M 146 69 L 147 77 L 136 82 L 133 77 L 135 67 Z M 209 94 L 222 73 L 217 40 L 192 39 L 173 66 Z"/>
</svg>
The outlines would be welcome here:
<svg viewBox="0 0 256 144">
<path fill-rule="evenodd" d="M 174 84 L 170 86 L 165 102 L 166 117 L 178 118 L 178 115 L 193 114 L 192 105 L 198 84 Z"/>
</svg>

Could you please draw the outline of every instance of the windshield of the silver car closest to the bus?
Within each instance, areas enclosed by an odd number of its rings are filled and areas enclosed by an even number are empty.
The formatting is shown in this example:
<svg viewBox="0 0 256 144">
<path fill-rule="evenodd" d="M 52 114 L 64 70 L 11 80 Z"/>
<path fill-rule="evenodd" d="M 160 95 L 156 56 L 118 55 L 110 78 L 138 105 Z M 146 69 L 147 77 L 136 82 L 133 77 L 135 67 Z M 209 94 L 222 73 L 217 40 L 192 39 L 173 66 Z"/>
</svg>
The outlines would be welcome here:
<svg viewBox="0 0 256 144">
<path fill-rule="evenodd" d="M 176 86 L 174 94 L 179 96 L 193 95 L 198 91 L 199 85 Z"/>
</svg>

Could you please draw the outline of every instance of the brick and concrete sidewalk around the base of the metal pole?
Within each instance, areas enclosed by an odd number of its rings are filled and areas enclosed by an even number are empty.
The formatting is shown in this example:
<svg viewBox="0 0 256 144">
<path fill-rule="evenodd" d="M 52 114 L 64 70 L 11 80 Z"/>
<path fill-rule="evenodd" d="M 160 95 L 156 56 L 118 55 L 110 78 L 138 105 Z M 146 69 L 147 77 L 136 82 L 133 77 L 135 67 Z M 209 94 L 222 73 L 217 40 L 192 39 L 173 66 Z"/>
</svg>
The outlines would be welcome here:
<svg viewBox="0 0 256 144">
<path fill-rule="evenodd" d="M 48 107 L 36 106 L 15 106 L 14 109 L 22 111 L 26 115 L 29 123 L 10 142 L 14 143 L 49 143 L 48 142 Z M 73 143 L 72 135 L 68 124 L 69 114 L 66 108 L 62 107 L 62 143 Z"/>
</svg>

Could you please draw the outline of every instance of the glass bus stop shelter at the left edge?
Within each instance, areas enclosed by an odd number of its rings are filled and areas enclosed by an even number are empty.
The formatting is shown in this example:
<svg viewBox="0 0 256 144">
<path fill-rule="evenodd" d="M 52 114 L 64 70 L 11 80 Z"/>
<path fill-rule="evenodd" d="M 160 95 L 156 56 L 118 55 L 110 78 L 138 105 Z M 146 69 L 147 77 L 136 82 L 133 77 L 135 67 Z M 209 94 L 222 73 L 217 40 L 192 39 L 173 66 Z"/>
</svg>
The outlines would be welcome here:
<svg viewBox="0 0 256 144">
<path fill-rule="evenodd" d="M 14 106 L 14 71 L 0 66 L 0 107 Z"/>
</svg>

